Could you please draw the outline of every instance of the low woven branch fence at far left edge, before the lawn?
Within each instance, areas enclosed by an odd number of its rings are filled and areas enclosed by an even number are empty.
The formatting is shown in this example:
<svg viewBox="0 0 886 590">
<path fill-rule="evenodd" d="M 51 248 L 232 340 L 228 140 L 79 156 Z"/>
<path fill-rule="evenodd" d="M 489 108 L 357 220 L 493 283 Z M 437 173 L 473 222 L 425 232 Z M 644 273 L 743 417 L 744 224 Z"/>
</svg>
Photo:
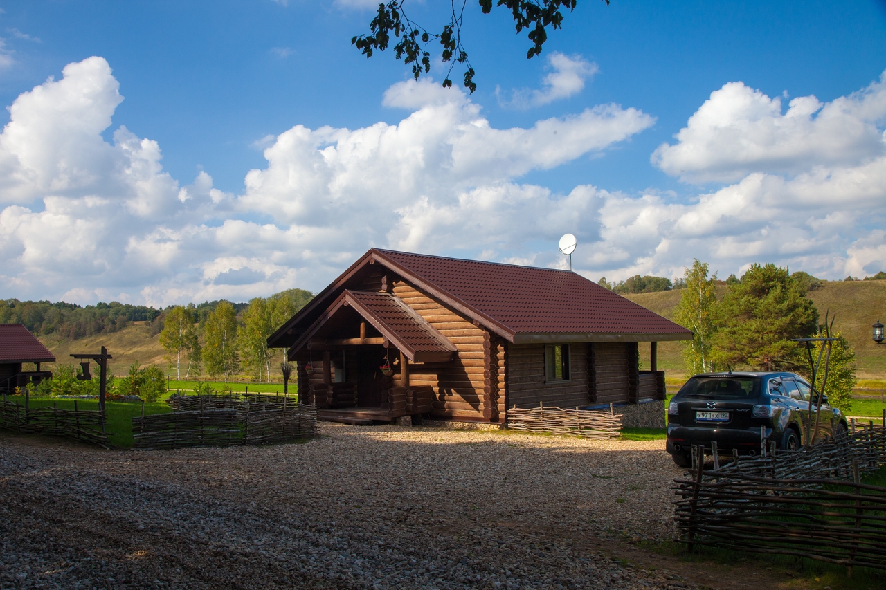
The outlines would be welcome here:
<svg viewBox="0 0 886 590">
<path fill-rule="evenodd" d="M 105 413 L 100 410 L 25 408 L 18 401 L 0 401 L 0 428 L 22 434 L 67 437 L 108 447 Z"/>
</svg>

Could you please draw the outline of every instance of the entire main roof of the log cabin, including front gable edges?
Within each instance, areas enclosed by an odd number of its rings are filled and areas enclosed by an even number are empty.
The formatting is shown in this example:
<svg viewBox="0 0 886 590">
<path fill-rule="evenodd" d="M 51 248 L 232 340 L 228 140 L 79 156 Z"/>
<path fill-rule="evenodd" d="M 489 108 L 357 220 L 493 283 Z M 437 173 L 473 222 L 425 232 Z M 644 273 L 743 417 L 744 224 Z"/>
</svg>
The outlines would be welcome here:
<svg viewBox="0 0 886 590">
<path fill-rule="evenodd" d="M 292 345 L 330 297 L 337 298 L 371 264 L 514 343 L 692 338 L 691 330 L 569 270 L 373 248 L 268 338 L 268 345 Z"/>
</svg>

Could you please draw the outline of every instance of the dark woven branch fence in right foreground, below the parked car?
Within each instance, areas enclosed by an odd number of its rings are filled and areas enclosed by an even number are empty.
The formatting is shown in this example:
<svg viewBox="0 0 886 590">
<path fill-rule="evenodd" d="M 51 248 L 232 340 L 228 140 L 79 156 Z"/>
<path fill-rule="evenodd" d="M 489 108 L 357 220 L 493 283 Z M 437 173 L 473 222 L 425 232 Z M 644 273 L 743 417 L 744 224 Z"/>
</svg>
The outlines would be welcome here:
<svg viewBox="0 0 886 590">
<path fill-rule="evenodd" d="M 886 570 L 886 487 L 860 477 L 886 464 L 886 432 L 870 427 L 798 451 L 768 449 L 675 479 L 681 542 L 797 555 Z"/>
</svg>

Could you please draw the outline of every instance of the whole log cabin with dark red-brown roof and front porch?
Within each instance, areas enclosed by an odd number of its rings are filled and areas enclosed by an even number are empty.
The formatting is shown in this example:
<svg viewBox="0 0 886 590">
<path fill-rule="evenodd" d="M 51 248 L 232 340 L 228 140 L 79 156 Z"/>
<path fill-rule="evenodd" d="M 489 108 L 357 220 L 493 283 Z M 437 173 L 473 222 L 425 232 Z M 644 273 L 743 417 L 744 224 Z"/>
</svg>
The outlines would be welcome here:
<svg viewBox="0 0 886 590">
<path fill-rule="evenodd" d="M 373 248 L 268 345 L 288 348 L 321 419 L 504 423 L 515 406 L 664 400 L 657 342 L 690 338 L 571 271 Z"/>
</svg>

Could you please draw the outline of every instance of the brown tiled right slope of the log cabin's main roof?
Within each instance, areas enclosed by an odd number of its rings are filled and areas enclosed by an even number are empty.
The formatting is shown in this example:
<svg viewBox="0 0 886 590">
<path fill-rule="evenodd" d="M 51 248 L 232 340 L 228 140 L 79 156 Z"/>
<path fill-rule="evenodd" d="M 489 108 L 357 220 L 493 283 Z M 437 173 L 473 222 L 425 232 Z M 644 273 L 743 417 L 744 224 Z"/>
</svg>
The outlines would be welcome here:
<svg viewBox="0 0 886 590">
<path fill-rule="evenodd" d="M 513 334 L 515 341 L 544 340 L 545 334 L 676 337 L 673 339 L 692 335 L 690 330 L 568 270 L 375 252 L 377 261 L 390 261 L 402 274 L 420 277 L 435 290 L 477 310 Z"/>
</svg>

